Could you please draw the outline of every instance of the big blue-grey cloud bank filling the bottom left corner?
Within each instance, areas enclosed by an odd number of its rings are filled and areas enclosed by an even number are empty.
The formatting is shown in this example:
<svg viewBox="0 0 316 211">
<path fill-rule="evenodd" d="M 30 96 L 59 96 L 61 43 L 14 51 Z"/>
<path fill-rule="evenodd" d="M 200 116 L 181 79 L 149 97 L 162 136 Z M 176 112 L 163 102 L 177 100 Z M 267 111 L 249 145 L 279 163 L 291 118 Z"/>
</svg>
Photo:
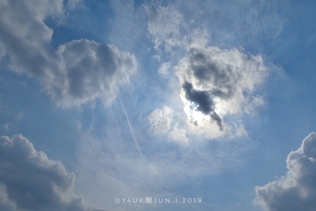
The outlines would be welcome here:
<svg viewBox="0 0 316 211">
<path fill-rule="evenodd" d="M 102 211 L 87 208 L 73 192 L 74 173 L 37 152 L 22 135 L 0 137 L 0 209 L 12 211 Z"/>
</svg>

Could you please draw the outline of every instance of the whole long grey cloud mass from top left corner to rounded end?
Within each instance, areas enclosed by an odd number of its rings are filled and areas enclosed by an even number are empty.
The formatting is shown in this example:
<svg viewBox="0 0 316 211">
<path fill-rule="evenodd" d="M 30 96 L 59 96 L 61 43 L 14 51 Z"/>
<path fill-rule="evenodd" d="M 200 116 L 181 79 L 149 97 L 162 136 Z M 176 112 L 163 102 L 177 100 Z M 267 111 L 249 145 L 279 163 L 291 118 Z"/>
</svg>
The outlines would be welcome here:
<svg viewBox="0 0 316 211">
<path fill-rule="evenodd" d="M 79 106 L 115 98 L 118 87 L 129 83 L 137 61 L 128 52 L 89 40 L 73 40 L 55 50 L 53 30 L 44 19 L 62 19 L 66 8 L 59 1 L 2 1 L 0 3 L 0 48 L 9 67 L 36 77 L 62 107 Z M 73 7 L 78 1 L 69 1 Z"/>
</svg>

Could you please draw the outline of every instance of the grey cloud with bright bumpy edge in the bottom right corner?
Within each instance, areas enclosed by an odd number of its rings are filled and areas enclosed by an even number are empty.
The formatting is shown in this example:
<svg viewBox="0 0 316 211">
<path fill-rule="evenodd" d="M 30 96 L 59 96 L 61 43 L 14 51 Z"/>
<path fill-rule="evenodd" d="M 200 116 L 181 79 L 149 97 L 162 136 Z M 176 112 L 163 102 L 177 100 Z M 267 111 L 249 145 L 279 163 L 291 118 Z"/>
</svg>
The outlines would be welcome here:
<svg viewBox="0 0 316 211">
<path fill-rule="evenodd" d="M 286 160 L 289 171 L 278 181 L 257 186 L 254 204 L 265 211 L 312 211 L 316 207 L 316 133 L 309 134 Z"/>
</svg>

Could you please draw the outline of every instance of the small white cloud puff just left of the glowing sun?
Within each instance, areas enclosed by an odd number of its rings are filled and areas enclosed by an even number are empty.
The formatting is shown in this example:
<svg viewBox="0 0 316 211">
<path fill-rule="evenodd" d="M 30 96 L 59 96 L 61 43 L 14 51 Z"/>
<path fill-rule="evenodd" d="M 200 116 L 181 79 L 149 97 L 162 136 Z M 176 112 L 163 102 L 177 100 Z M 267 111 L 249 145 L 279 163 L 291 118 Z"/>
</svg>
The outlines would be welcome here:
<svg viewBox="0 0 316 211">
<path fill-rule="evenodd" d="M 171 128 L 173 110 L 168 106 L 161 109 L 155 109 L 148 115 L 150 127 L 149 130 L 153 134 L 167 133 Z"/>
</svg>

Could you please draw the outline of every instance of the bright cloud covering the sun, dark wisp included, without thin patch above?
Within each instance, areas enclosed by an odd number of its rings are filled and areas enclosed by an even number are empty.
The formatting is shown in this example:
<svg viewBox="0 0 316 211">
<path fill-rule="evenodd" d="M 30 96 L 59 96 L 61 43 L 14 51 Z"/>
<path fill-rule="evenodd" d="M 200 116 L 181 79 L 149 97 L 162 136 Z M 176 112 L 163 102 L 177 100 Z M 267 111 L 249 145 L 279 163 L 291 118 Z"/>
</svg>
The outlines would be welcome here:
<svg viewBox="0 0 316 211">
<path fill-rule="evenodd" d="M 250 113 L 263 103 L 261 96 L 251 96 L 268 74 L 260 55 L 247 56 L 236 48 L 197 47 L 175 69 L 192 131 L 205 133 L 212 127 L 213 133 L 207 135 L 211 138 L 236 134 L 242 126 L 226 124 L 223 116 Z"/>
</svg>

